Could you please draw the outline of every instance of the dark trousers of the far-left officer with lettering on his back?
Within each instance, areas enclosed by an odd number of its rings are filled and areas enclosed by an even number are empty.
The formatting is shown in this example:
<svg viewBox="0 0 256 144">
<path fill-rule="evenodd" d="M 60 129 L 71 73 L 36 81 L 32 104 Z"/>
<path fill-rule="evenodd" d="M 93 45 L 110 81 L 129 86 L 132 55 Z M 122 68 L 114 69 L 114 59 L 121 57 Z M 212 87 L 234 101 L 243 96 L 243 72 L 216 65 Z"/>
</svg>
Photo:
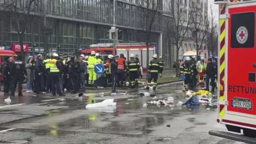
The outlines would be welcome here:
<svg viewBox="0 0 256 144">
<path fill-rule="evenodd" d="M 12 92 L 11 92 L 12 95 L 14 95 L 17 83 L 19 83 L 19 85 L 18 85 L 18 93 L 19 93 L 19 95 L 22 94 L 22 83 L 23 83 L 23 81 L 24 81 L 24 74 L 15 74 L 12 77 Z"/>
</svg>

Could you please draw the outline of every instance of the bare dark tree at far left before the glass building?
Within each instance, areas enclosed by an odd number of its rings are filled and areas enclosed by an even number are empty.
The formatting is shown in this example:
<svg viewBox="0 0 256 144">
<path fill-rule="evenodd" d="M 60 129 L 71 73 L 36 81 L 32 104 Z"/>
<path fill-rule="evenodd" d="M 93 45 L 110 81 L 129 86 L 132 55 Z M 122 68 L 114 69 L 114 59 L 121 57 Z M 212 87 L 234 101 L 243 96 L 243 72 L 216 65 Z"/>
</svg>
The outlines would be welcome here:
<svg viewBox="0 0 256 144">
<path fill-rule="evenodd" d="M 17 29 L 20 43 L 20 54 L 22 56 L 22 60 L 24 60 L 24 34 L 29 26 L 29 22 L 35 19 L 36 15 L 40 16 L 40 13 L 43 13 L 44 0 L 10 0 L 5 1 L 3 6 L 4 11 L 8 12 L 9 17 L 12 18 L 12 22 L 15 24 Z"/>
</svg>

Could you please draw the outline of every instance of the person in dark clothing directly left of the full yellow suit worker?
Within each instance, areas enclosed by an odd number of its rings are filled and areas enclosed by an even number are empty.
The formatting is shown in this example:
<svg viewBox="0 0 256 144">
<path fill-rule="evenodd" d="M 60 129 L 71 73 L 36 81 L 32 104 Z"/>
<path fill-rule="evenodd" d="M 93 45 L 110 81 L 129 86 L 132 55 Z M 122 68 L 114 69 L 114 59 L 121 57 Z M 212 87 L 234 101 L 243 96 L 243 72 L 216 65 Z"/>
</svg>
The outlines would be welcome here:
<svg viewBox="0 0 256 144">
<path fill-rule="evenodd" d="M 85 79 L 84 79 L 84 72 L 87 70 L 86 62 L 84 61 L 84 54 L 81 54 L 79 57 L 79 87 L 82 84 L 81 90 L 84 92 L 85 90 Z"/>
</svg>

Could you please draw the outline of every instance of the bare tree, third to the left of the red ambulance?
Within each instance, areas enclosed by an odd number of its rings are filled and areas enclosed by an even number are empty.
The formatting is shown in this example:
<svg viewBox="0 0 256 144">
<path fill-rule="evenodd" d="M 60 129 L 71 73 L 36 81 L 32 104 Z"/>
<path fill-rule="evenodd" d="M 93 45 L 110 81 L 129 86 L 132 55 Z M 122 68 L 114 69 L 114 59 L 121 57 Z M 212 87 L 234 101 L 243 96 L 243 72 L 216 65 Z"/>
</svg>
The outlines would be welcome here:
<svg viewBox="0 0 256 144">
<path fill-rule="evenodd" d="M 168 31 L 168 47 L 171 50 L 171 45 L 176 48 L 176 76 L 179 76 L 179 50 L 182 47 L 184 38 L 189 28 L 190 15 L 184 10 L 180 1 L 175 1 L 173 8 L 169 5 L 171 19 L 166 23 Z"/>
</svg>

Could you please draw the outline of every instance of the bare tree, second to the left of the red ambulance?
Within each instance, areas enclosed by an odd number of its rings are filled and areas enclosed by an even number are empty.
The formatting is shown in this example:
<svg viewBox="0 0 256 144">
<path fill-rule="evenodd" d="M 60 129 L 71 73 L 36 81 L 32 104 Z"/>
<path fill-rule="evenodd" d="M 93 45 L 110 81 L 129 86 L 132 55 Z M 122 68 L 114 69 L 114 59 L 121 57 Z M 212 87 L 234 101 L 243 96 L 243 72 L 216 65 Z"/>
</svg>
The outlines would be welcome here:
<svg viewBox="0 0 256 144">
<path fill-rule="evenodd" d="M 191 40 L 196 44 L 196 54 L 206 44 L 205 36 L 207 35 L 209 22 L 207 19 L 207 12 L 205 15 L 202 4 L 198 3 L 200 0 L 191 1 L 190 15 L 191 15 Z"/>
</svg>

